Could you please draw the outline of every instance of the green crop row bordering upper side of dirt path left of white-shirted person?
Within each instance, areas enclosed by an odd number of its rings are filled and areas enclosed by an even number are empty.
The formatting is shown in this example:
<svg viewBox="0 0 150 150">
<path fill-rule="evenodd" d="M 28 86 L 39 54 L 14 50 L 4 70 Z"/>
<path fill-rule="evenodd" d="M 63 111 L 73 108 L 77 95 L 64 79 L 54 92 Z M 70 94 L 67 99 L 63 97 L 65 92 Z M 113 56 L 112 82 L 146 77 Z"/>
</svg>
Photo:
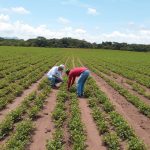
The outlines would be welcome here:
<svg viewBox="0 0 150 150">
<path fill-rule="evenodd" d="M 51 60 L 51 63 L 55 63 L 55 59 Z M 12 102 L 15 97 L 20 96 L 24 89 L 28 88 L 32 83 L 40 79 L 46 70 L 48 70 L 48 62 L 39 64 L 28 70 L 28 73 L 24 78 L 18 80 L 16 83 L 11 83 L 4 89 L 0 90 L 0 109 L 4 109 L 5 106 Z M 8 84 L 7 82 L 5 82 Z"/>
</svg>

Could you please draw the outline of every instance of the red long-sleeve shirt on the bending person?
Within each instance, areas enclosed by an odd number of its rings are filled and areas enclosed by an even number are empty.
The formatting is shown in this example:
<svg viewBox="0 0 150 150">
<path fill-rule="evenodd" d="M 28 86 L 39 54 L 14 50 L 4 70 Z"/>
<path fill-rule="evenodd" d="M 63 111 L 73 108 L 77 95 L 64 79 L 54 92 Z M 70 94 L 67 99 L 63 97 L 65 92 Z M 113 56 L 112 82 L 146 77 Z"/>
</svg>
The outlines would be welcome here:
<svg viewBox="0 0 150 150">
<path fill-rule="evenodd" d="M 75 78 L 79 77 L 82 72 L 87 70 L 85 67 L 74 68 L 69 72 L 68 88 L 74 84 Z"/>
</svg>

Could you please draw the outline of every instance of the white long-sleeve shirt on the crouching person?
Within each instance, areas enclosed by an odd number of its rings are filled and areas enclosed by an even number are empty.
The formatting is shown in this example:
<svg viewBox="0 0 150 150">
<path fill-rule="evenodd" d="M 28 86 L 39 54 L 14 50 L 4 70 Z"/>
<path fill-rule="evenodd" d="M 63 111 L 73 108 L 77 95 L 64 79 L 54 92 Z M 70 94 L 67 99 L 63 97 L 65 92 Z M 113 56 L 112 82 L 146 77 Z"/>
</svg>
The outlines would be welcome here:
<svg viewBox="0 0 150 150">
<path fill-rule="evenodd" d="M 52 67 L 47 73 L 49 78 L 53 77 L 54 75 L 62 79 L 62 72 L 58 70 L 58 66 Z"/>
</svg>

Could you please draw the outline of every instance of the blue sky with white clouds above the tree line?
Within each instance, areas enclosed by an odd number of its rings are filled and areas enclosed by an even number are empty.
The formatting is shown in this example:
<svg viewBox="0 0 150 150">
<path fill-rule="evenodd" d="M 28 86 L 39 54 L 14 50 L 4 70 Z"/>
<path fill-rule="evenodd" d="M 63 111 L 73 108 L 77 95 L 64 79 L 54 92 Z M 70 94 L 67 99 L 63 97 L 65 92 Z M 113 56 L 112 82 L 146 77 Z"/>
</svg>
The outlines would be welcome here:
<svg viewBox="0 0 150 150">
<path fill-rule="evenodd" d="M 150 44 L 150 0 L 0 0 L 0 37 Z"/>
</svg>

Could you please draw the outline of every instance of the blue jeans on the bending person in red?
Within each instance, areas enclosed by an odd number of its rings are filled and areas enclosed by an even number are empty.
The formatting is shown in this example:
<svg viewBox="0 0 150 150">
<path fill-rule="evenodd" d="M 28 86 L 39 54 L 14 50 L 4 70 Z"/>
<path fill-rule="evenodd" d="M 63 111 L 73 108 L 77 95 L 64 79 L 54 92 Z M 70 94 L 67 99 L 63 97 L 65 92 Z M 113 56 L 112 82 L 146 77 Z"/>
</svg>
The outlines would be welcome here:
<svg viewBox="0 0 150 150">
<path fill-rule="evenodd" d="M 78 96 L 83 95 L 83 90 L 84 90 L 84 84 L 90 74 L 89 70 L 85 70 L 84 72 L 81 73 L 78 83 L 77 83 L 77 94 Z"/>
</svg>

